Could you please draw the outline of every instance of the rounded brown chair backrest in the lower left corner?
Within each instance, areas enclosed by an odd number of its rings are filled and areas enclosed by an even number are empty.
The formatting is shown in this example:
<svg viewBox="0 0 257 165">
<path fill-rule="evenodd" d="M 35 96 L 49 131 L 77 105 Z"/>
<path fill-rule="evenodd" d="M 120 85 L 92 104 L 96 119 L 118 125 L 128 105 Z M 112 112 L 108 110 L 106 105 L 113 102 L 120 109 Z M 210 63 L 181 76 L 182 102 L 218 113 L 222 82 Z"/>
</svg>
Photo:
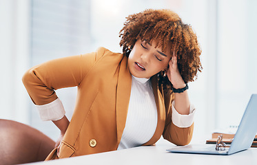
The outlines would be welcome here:
<svg viewBox="0 0 257 165">
<path fill-rule="evenodd" d="M 0 119 L 0 164 L 43 161 L 55 142 L 26 124 Z"/>
</svg>

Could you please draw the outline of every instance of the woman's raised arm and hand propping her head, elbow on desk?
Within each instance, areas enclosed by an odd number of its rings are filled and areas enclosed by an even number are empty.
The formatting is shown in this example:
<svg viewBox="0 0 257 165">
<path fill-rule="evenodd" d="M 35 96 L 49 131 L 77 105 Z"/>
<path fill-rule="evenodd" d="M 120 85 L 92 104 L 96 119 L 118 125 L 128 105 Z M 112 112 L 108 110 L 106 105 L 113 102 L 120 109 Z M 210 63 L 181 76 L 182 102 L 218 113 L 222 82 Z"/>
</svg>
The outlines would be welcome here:
<svg viewBox="0 0 257 165">
<path fill-rule="evenodd" d="M 185 87 L 184 80 L 178 71 L 175 51 L 169 61 L 167 76 L 174 88 Z M 171 104 L 171 106 L 166 111 L 167 118 L 163 137 L 176 145 L 189 144 L 194 130 L 194 124 L 192 123 L 194 107 L 190 106 L 187 91 L 180 94 L 174 93 L 173 102 L 167 102 L 167 104 Z"/>
</svg>

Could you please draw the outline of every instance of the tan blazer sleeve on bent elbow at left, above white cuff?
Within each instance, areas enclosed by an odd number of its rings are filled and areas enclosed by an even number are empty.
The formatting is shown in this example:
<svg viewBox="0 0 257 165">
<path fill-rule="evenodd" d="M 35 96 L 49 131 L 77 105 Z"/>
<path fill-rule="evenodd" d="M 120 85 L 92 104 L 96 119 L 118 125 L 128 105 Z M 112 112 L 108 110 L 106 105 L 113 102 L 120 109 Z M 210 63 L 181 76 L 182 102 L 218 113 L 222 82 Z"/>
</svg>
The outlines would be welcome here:
<svg viewBox="0 0 257 165">
<path fill-rule="evenodd" d="M 56 89 L 79 86 L 104 52 L 101 47 L 90 54 L 59 58 L 29 69 L 22 80 L 34 104 L 43 105 L 56 100 Z"/>
</svg>

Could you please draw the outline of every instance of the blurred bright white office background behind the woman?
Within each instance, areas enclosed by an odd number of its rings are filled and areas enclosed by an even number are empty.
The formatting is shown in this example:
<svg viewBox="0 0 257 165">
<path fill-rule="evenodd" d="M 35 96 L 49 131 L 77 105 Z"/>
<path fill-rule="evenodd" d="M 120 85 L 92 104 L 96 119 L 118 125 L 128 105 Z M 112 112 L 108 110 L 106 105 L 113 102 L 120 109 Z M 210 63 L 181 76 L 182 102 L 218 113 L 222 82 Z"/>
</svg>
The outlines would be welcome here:
<svg viewBox="0 0 257 165">
<path fill-rule="evenodd" d="M 203 72 L 189 83 L 197 108 L 194 138 L 237 126 L 257 93 L 257 1 L 254 0 L 0 0 L 0 118 L 39 129 L 53 140 L 59 130 L 42 122 L 21 78 L 30 67 L 107 47 L 121 52 L 125 17 L 168 8 L 192 25 Z M 76 87 L 56 91 L 70 119 Z"/>
</svg>

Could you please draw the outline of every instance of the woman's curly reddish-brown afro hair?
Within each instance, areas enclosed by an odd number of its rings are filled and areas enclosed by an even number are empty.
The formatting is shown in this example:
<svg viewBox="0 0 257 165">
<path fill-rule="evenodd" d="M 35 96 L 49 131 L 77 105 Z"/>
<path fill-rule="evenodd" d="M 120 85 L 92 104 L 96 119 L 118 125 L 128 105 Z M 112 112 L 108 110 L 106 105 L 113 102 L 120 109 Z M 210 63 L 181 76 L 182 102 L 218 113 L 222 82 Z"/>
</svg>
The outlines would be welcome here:
<svg viewBox="0 0 257 165">
<path fill-rule="evenodd" d="M 199 56 L 201 47 L 198 44 L 196 34 L 192 27 L 181 21 L 178 14 L 171 10 L 148 9 L 128 16 L 124 27 L 120 31 L 123 54 L 129 56 L 138 39 L 152 44 L 156 41 L 156 47 L 162 51 L 173 52 L 174 48 L 178 57 L 178 69 L 185 83 L 194 81 L 197 72 L 203 69 Z M 163 72 L 158 74 L 159 85 L 165 89 L 171 89 L 172 84 Z"/>
</svg>

